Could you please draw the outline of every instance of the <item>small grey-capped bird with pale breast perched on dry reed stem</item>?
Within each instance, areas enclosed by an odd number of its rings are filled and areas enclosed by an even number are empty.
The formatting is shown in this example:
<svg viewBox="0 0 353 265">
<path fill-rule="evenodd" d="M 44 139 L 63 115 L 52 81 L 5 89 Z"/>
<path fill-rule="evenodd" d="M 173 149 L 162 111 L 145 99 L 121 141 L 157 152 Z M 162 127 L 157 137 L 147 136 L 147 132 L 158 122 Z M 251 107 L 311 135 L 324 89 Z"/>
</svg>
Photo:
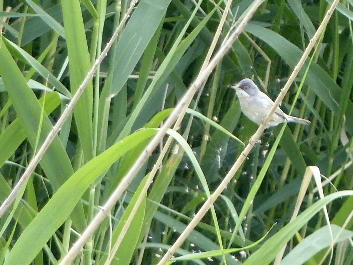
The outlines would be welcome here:
<svg viewBox="0 0 353 265">
<path fill-rule="evenodd" d="M 249 78 L 241 80 L 235 86 L 237 95 L 240 101 L 241 111 L 253 122 L 261 125 L 263 119 L 269 113 L 270 108 L 274 102 L 265 93 L 261 92 L 256 84 Z M 276 126 L 283 122 L 296 122 L 305 125 L 309 125 L 311 122 L 306 119 L 301 119 L 293 116 L 289 116 L 284 113 L 280 107 L 277 107 L 275 113 L 271 117 L 267 128 L 270 126 Z"/>
</svg>

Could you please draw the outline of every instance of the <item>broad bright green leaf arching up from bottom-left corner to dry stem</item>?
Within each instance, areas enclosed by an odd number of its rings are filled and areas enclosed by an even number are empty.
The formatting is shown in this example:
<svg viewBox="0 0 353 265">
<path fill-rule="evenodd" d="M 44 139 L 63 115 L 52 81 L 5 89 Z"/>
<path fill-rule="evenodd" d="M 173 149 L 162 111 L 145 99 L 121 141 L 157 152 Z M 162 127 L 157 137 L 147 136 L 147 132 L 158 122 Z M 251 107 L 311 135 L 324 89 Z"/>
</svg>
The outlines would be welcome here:
<svg viewBox="0 0 353 265">
<path fill-rule="evenodd" d="M 29 264 L 70 216 L 73 208 L 95 178 L 106 171 L 121 155 L 155 133 L 156 131 L 153 129 L 137 131 L 117 142 L 76 171 L 23 231 L 4 264 Z M 38 231 L 41 232 L 38 233 Z M 31 238 L 32 244 L 28 244 L 28 238 Z"/>
</svg>

